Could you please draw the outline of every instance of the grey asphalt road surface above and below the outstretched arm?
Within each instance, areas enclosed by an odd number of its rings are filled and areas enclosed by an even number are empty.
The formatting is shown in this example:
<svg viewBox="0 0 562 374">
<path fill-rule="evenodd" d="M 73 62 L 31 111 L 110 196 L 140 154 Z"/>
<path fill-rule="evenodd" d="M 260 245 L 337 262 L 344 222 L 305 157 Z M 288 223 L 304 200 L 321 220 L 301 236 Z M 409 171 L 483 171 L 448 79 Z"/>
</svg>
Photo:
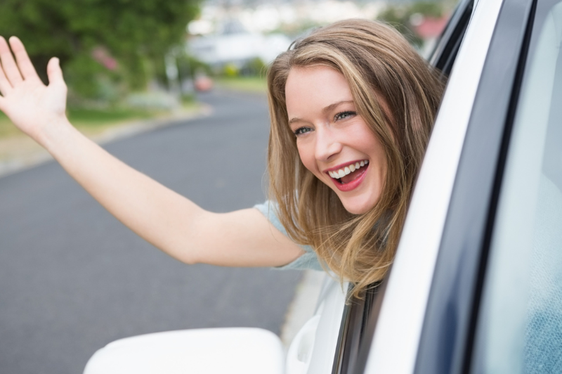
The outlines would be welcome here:
<svg viewBox="0 0 562 374">
<path fill-rule="evenodd" d="M 264 200 L 265 98 L 211 94 L 210 117 L 107 144 L 205 209 Z M 108 342 L 164 330 L 279 333 L 301 273 L 176 262 L 54 162 L 0 178 L 0 373 L 77 374 Z"/>
</svg>

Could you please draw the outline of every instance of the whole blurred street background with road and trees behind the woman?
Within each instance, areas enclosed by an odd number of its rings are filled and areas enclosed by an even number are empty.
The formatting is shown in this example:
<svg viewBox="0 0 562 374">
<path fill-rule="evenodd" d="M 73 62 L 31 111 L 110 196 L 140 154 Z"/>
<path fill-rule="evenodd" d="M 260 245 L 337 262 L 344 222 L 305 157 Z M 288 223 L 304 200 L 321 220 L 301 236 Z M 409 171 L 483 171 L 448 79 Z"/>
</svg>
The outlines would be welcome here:
<svg viewBox="0 0 562 374">
<path fill-rule="evenodd" d="M 86 136 L 205 209 L 227 212 L 266 199 L 264 73 L 278 53 L 314 27 L 369 18 L 426 55 L 454 6 L 2 0 L 0 34 L 22 39 L 45 82 L 48 59 L 60 58 L 67 114 Z M 80 373 L 108 342 L 164 330 L 286 335 L 307 279 L 176 262 L 119 224 L 0 113 L 1 373 Z"/>
</svg>

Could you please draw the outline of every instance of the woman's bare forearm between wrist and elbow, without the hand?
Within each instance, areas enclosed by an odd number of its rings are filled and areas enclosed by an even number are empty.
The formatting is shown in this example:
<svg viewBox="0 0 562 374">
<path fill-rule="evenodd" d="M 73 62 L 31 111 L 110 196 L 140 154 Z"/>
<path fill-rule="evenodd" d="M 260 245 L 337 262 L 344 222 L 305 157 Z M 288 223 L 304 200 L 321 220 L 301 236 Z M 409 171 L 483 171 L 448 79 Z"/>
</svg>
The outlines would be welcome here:
<svg viewBox="0 0 562 374">
<path fill-rule="evenodd" d="M 49 126 L 36 140 L 132 231 L 183 262 L 195 262 L 185 242 L 203 209 L 117 160 L 67 120 Z"/>
</svg>

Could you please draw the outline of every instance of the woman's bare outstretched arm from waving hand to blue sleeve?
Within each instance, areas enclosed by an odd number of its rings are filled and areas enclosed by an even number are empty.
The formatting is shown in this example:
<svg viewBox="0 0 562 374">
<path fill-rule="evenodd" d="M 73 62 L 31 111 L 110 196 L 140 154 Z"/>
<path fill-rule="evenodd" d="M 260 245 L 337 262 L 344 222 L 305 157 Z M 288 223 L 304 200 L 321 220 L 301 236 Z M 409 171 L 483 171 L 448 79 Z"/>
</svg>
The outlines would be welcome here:
<svg viewBox="0 0 562 374">
<path fill-rule="evenodd" d="M 139 236 L 188 264 L 278 266 L 302 253 L 256 209 L 207 212 L 90 141 L 65 115 L 58 59 L 48 63 L 45 86 L 21 41 L 12 37 L 10 46 L 15 60 L 0 37 L 0 110 Z"/>
</svg>

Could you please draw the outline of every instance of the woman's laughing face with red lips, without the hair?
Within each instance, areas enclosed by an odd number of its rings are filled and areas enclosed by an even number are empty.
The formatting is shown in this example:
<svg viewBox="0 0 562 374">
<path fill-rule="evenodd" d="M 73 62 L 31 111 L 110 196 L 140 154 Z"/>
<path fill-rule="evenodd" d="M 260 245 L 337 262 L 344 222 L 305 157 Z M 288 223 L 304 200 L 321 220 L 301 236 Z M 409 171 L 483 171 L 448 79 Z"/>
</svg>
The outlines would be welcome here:
<svg viewBox="0 0 562 374">
<path fill-rule="evenodd" d="M 386 176 L 384 151 L 357 114 L 344 75 L 320 65 L 293 67 L 285 96 L 306 169 L 334 190 L 348 212 L 374 207 Z"/>
</svg>

